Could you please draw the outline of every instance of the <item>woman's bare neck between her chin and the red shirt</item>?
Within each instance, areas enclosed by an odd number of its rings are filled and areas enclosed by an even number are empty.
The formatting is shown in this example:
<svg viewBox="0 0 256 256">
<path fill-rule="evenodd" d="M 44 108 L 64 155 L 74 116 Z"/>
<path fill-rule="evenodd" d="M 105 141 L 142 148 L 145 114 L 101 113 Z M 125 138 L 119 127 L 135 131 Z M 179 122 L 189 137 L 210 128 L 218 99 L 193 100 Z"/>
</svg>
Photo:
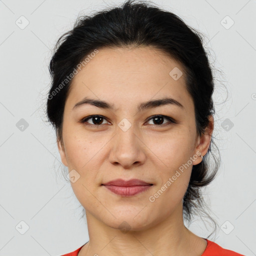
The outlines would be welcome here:
<svg viewBox="0 0 256 256">
<path fill-rule="evenodd" d="M 150 226 L 143 226 L 143 221 L 134 221 L 131 226 L 122 219 L 112 222 L 107 219 L 108 224 L 105 224 L 89 212 L 86 218 L 89 242 L 82 247 L 79 256 L 176 256 L 191 255 L 191 249 L 198 251 L 194 255 L 201 255 L 206 247 L 206 240 L 184 226 L 182 204 L 166 219 L 155 220 Z"/>
</svg>

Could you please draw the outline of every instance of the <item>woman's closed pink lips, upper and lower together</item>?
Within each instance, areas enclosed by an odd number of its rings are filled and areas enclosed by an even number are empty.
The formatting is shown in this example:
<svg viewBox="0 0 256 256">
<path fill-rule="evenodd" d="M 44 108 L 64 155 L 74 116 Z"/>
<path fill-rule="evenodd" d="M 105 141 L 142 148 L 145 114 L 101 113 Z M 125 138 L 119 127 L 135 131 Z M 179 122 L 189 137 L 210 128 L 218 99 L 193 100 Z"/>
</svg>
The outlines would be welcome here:
<svg viewBox="0 0 256 256">
<path fill-rule="evenodd" d="M 147 183 L 140 179 L 130 179 L 125 181 L 119 178 L 119 179 L 111 180 L 102 185 L 115 194 L 118 194 L 121 196 L 132 196 L 147 190 L 153 184 Z"/>
</svg>

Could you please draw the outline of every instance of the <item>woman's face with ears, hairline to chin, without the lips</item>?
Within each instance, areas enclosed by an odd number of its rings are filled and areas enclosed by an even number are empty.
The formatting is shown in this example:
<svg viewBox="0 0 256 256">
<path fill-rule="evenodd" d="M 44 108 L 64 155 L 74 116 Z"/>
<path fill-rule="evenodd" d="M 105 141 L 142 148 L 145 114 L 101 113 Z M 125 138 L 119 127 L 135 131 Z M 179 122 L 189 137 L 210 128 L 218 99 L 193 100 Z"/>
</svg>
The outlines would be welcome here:
<svg viewBox="0 0 256 256">
<path fill-rule="evenodd" d="M 74 76 L 63 114 L 64 148 L 59 142 L 58 148 L 86 215 L 114 228 L 126 221 L 138 230 L 181 214 L 192 165 L 210 141 L 196 135 L 194 105 L 181 72 L 176 61 L 145 46 L 99 49 Z M 112 108 L 75 106 L 84 97 Z M 163 98 L 180 105 L 145 104 Z M 117 178 L 153 185 L 131 196 L 102 185 Z"/>
</svg>

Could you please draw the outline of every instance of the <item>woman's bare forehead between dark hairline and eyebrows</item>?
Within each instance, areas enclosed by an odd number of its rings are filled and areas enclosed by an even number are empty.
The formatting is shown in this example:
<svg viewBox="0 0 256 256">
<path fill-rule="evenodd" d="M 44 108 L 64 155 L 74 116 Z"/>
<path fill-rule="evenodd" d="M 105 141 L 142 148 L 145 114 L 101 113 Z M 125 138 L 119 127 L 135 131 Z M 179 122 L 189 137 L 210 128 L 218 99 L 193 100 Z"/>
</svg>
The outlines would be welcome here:
<svg viewBox="0 0 256 256">
<path fill-rule="evenodd" d="M 101 48 L 73 77 L 66 104 L 73 107 L 90 96 L 119 109 L 134 101 L 169 96 L 190 109 L 193 103 L 182 69 L 177 61 L 154 47 Z"/>
</svg>

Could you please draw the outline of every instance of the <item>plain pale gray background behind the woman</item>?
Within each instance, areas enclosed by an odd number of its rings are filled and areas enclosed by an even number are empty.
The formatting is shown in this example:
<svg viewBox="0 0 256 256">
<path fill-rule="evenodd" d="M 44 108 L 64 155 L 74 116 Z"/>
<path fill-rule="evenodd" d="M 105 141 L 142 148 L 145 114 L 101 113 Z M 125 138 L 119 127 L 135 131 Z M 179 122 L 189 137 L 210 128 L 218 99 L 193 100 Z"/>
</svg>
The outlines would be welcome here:
<svg viewBox="0 0 256 256">
<path fill-rule="evenodd" d="M 54 43 L 78 14 L 120 2 L 0 1 L 0 256 L 61 255 L 88 240 L 81 205 L 61 179 L 67 168 L 45 121 L 48 63 Z M 213 132 L 221 165 L 204 190 L 219 230 L 209 239 L 256 255 L 256 1 L 154 2 L 205 34 L 204 46 L 221 71 L 215 73 Z M 189 229 L 201 237 L 211 230 L 200 219 Z"/>
</svg>

